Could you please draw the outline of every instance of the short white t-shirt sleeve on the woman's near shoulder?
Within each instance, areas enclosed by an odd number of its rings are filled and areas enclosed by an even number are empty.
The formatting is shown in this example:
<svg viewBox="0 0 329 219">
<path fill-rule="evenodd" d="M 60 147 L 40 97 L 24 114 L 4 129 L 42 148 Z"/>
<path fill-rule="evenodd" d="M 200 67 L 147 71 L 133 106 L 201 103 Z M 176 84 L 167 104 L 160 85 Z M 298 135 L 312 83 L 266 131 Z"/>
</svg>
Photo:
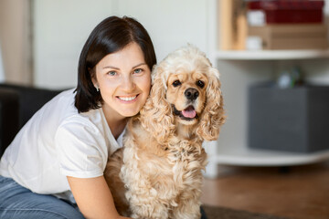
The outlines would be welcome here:
<svg viewBox="0 0 329 219">
<path fill-rule="evenodd" d="M 59 126 L 55 136 L 60 172 L 66 176 L 101 176 L 107 162 L 104 135 L 92 124 L 70 121 Z"/>
</svg>

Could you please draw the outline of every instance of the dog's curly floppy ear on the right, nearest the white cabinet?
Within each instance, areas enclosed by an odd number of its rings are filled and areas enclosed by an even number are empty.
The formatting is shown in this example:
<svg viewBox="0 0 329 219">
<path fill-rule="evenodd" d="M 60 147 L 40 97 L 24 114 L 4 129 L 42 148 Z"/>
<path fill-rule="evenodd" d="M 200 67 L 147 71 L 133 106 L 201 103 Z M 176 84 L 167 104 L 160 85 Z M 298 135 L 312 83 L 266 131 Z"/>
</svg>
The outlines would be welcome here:
<svg viewBox="0 0 329 219">
<path fill-rule="evenodd" d="M 220 126 L 224 124 L 226 119 L 217 68 L 209 67 L 208 81 L 206 105 L 201 114 L 196 133 L 202 139 L 214 141 L 218 139 Z"/>
</svg>

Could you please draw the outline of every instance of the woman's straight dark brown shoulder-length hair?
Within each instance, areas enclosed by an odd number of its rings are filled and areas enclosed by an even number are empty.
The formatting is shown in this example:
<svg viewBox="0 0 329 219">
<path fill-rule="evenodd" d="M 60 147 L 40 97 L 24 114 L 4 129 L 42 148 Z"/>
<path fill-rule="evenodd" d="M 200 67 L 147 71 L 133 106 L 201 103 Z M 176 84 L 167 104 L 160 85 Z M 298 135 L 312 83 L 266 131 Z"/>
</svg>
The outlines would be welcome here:
<svg viewBox="0 0 329 219">
<path fill-rule="evenodd" d="M 95 74 L 94 67 L 103 57 L 120 51 L 132 42 L 141 47 L 145 62 L 152 70 L 156 64 L 154 46 L 151 37 L 138 21 L 127 16 L 110 16 L 92 30 L 79 59 L 78 86 L 75 90 L 75 107 L 79 112 L 101 107 L 101 93 L 95 89 L 91 80 Z"/>
</svg>

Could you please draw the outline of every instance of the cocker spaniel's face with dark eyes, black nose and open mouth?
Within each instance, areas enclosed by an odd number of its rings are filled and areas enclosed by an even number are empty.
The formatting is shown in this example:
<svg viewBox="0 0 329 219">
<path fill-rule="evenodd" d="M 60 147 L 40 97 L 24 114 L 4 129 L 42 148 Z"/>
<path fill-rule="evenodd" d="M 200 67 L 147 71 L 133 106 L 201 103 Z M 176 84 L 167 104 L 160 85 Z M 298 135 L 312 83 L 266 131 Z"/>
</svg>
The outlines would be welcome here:
<svg viewBox="0 0 329 219">
<path fill-rule="evenodd" d="M 197 71 L 177 72 L 168 78 L 166 99 L 180 123 L 197 122 L 206 102 L 207 77 Z"/>
</svg>

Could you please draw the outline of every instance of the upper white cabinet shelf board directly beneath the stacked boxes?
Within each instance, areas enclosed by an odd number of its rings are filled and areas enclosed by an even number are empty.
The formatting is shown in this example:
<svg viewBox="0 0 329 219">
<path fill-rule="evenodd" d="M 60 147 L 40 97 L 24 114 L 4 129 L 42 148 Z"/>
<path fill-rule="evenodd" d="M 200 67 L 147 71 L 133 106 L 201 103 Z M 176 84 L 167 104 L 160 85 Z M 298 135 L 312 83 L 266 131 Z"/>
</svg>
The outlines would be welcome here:
<svg viewBox="0 0 329 219">
<path fill-rule="evenodd" d="M 287 60 L 329 57 L 329 49 L 308 50 L 231 50 L 216 51 L 215 58 L 226 60 Z"/>
</svg>

